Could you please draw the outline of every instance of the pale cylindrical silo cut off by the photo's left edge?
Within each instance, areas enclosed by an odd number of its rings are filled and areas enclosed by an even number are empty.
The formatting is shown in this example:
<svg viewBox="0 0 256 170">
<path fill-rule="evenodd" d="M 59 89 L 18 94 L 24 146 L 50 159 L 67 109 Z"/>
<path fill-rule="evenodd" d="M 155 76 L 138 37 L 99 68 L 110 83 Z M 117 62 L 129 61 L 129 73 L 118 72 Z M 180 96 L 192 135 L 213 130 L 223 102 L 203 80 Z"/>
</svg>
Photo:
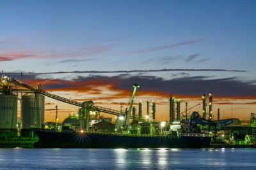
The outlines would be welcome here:
<svg viewBox="0 0 256 170">
<path fill-rule="evenodd" d="M 15 136 L 17 134 L 16 124 L 17 96 L 0 94 L 0 136 Z"/>
</svg>

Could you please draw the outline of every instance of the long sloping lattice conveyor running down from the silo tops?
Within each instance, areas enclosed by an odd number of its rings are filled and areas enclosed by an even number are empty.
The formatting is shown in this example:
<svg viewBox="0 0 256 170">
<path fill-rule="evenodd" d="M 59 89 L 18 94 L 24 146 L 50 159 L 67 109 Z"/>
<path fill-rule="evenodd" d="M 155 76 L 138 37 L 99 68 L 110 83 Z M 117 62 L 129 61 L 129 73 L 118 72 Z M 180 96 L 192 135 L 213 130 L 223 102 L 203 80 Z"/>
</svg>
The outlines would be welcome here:
<svg viewBox="0 0 256 170">
<path fill-rule="evenodd" d="M 120 115 L 120 111 L 118 111 L 118 110 L 112 110 L 112 109 L 109 109 L 109 108 L 103 108 L 101 106 L 95 106 L 95 105 L 92 105 L 92 104 L 83 104 L 83 103 L 80 103 L 78 101 L 72 101 L 72 100 L 67 99 L 65 97 L 60 97 L 60 96 L 57 96 L 55 94 L 51 94 L 50 92 L 46 92 L 45 90 L 35 88 L 35 87 L 31 87 L 31 86 L 29 86 L 25 83 L 22 83 L 21 81 L 15 80 L 12 77 L 4 76 L 3 78 L 1 78 L 2 83 L 3 83 L 3 81 L 7 81 L 9 83 L 19 85 L 20 87 L 24 87 L 26 89 L 29 89 L 29 90 L 33 91 L 33 92 L 36 92 L 38 94 L 42 94 L 44 96 L 50 97 L 52 99 L 56 99 L 56 100 L 64 102 L 64 103 L 72 104 L 72 105 L 79 106 L 79 107 L 82 107 L 82 108 L 88 108 L 88 109 L 92 109 L 92 110 L 96 110 L 96 111 L 101 111 L 103 113 L 109 113 L 111 115 Z"/>
</svg>

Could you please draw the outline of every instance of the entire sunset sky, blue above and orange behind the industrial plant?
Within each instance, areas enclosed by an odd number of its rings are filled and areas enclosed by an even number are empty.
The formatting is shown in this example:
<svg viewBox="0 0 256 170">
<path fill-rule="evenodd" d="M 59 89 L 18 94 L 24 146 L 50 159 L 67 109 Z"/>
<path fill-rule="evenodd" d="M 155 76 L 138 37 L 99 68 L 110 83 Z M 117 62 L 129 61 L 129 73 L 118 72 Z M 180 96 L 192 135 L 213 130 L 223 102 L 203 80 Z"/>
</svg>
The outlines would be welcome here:
<svg viewBox="0 0 256 170">
<path fill-rule="evenodd" d="M 138 83 L 135 106 L 168 98 L 213 118 L 248 120 L 256 112 L 256 1 L 0 0 L 0 68 L 7 76 L 76 101 L 120 110 Z M 209 99 L 207 98 L 207 103 Z M 45 120 L 77 107 L 45 97 Z M 207 113 L 209 113 L 207 107 Z M 104 117 L 111 115 L 103 114 Z"/>
</svg>

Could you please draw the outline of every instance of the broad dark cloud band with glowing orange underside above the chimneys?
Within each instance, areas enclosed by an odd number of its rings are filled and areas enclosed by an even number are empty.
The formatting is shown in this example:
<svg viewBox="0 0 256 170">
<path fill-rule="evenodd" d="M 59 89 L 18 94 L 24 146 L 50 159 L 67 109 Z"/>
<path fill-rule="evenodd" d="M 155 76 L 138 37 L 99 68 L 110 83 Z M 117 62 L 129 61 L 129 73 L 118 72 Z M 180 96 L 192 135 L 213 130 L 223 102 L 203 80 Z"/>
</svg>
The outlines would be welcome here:
<svg viewBox="0 0 256 170">
<path fill-rule="evenodd" d="M 118 99 L 131 96 L 132 85 L 138 83 L 140 89 L 138 96 L 202 96 L 212 92 L 214 96 L 223 97 L 246 97 L 256 96 L 256 85 L 254 81 L 241 81 L 237 78 L 211 78 L 207 76 L 183 76 L 164 80 L 157 76 L 79 76 L 74 80 L 59 79 L 34 79 L 24 80 L 30 85 L 42 85 L 45 90 L 86 92 L 88 94 L 100 95 L 104 90 L 114 91 L 106 99 Z M 161 90 L 160 90 L 161 89 Z M 102 96 L 97 96 L 99 99 Z M 102 99 L 102 98 L 101 98 Z"/>
</svg>

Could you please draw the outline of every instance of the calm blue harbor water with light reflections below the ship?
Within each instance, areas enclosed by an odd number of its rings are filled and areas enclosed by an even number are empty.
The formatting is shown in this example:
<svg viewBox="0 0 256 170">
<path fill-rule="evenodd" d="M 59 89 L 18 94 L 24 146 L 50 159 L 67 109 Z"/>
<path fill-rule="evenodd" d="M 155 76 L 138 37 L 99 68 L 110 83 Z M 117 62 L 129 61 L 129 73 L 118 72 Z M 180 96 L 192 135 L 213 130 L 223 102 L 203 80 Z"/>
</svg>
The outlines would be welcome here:
<svg viewBox="0 0 256 170">
<path fill-rule="evenodd" d="M 0 169 L 256 169 L 256 148 L 0 148 Z"/>
</svg>

